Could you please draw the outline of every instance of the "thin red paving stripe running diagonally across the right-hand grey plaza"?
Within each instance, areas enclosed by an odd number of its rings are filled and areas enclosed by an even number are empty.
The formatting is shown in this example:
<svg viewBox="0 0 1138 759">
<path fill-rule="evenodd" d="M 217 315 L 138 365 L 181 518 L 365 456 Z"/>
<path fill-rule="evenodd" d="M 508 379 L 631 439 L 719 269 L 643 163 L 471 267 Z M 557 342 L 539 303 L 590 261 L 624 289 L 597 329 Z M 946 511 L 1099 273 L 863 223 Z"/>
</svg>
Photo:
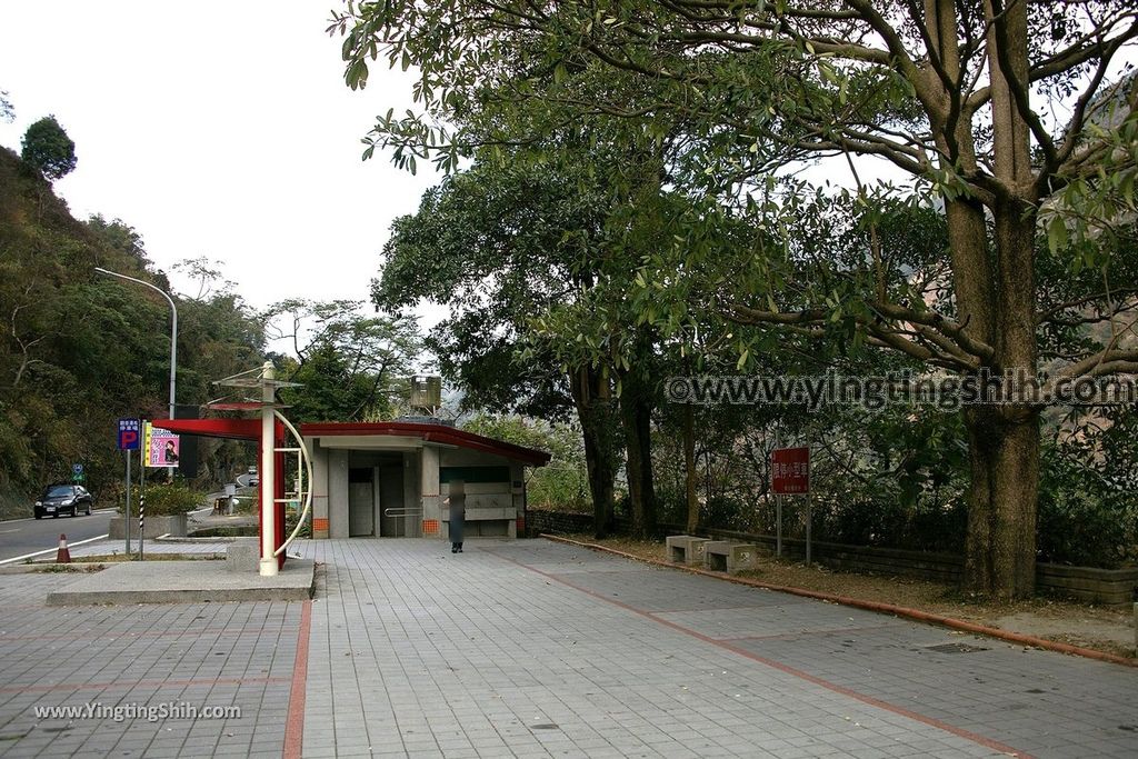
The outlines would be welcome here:
<svg viewBox="0 0 1138 759">
<path fill-rule="evenodd" d="M 551 536 L 543 535 L 542 537 L 551 537 Z M 560 538 L 560 542 L 569 543 L 571 545 L 577 545 L 577 546 L 580 546 L 580 547 L 592 547 L 591 544 L 578 543 L 576 541 L 569 541 L 568 538 Z M 597 546 L 597 547 L 601 547 L 601 546 Z M 866 704 L 868 704 L 871 707 L 876 707 L 876 708 L 883 709 L 885 711 L 891 711 L 894 715 L 899 715 L 901 717 L 906 717 L 906 718 L 912 719 L 914 721 L 922 723 L 923 725 L 929 725 L 930 727 L 935 727 L 937 729 L 945 731 L 946 733 L 951 733 L 953 735 L 956 735 L 957 737 L 962 737 L 962 739 L 964 739 L 966 741 L 971 741 L 973 743 L 976 743 L 979 745 L 986 746 L 988 749 L 992 749 L 995 751 L 1000 751 L 1000 752 L 1006 753 L 1008 756 L 1019 757 L 1020 759 L 1031 759 L 1031 754 L 1030 753 L 1026 753 L 1024 751 L 1020 751 L 1017 749 L 1013 749 L 1012 746 L 1006 745 L 1004 743 L 1000 743 L 999 741 L 993 741 L 991 739 L 984 737 L 983 735 L 978 735 L 975 733 L 972 733 L 970 731 L 963 729 L 960 727 L 955 727 L 953 725 L 949 725 L 948 723 L 942 723 L 939 719 L 935 719 L 933 717 L 927 717 L 925 715 L 921 715 L 921 713 L 917 713 L 917 712 L 912 711 L 909 709 L 906 709 L 905 707 L 898 707 L 897 704 L 889 703 L 888 701 L 882 701 L 881 699 L 875 699 L 872 695 L 867 695 L 865 693 L 859 693 L 857 691 L 853 691 L 852 688 L 846 687 L 844 685 L 839 685 L 838 683 L 831 683 L 830 680 L 823 679 L 823 678 L 820 678 L 820 677 L 818 677 L 816 675 L 811 675 L 811 674 L 809 674 L 807 671 L 803 671 L 801 669 L 795 669 L 794 667 L 791 667 L 789 665 L 784 665 L 781 661 L 775 661 L 774 659 L 767 659 L 766 657 L 760 657 L 759 654 L 753 653 L 751 651 L 748 651 L 747 649 L 741 649 L 741 647 L 739 647 L 736 645 L 732 645 L 731 643 L 727 643 L 725 641 L 719 641 L 719 640 L 716 640 L 714 637 L 709 637 L 707 635 L 703 635 L 702 633 L 696 633 L 695 630 L 693 630 L 693 629 L 691 629 L 688 627 L 684 627 L 683 625 L 677 625 L 676 622 L 668 621 L 667 619 L 660 619 L 659 617 L 654 617 L 651 612 L 643 611 L 643 610 L 637 609 L 636 607 L 629 605 L 629 604 L 627 604 L 627 603 L 625 603 L 622 601 L 616 601 L 615 599 L 610 599 L 607 595 L 603 595 L 601 593 L 596 593 L 596 592 L 591 591 L 591 589 L 588 589 L 586 587 L 580 587 L 578 585 L 575 585 L 575 584 L 570 583 L 567 579 L 558 577 L 556 575 L 553 575 L 553 574 L 546 572 L 546 571 L 542 571 L 541 569 L 536 569 L 534 567 L 529 567 L 528 564 L 523 564 L 520 561 L 516 561 L 514 559 L 510 559 L 509 556 L 503 556 L 502 554 L 495 553 L 494 551 L 490 551 L 489 548 L 483 548 L 483 551 L 486 551 L 487 553 L 492 553 L 492 554 L 496 555 L 497 558 L 502 559 L 503 561 L 509 561 L 510 563 L 517 564 L 518 567 L 521 567 L 523 569 L 528 569 L 531 572 L 535 572 L 535 574 L 541 575 L 543 577 L 547 577 L 549 579 L 554 580 L 556 583 L 560 583 L 560 584 L 564 585 L 566 587 L 571 587 L 575 591 L 579 591 L 582 593 L 591 595 L 594 599 L 600 599 L 601 601 L 604 601 L 607 603 L 611 603 L 615 607 L 619 607 L 621 609 L 630 611 L 634 614 L 637 614 L 637 616 L 643 617 L 645 619 L 650 619 L 650 620 L 657 622 L 658 625 L 663 625 L 665 627 L 674 629 L 677 633 L 683 633 L 684 635 L 688 635 L 691 637 L 694 637 L 698 641 L 703 641 L 704 643 L 709 643 L 711 645 L 718 646 L 718 647 L 724 649 L 726 651 L 731 651 L 732 653 L 737 654 L 740 657 L 743 657 L 744 659 L 750 659 L 751 661 L 757 661 L 760 665 L 766 665 L 767 667 L 770 667 L 772 669 L 777 669 L 781 673 L 785 673 L 785 674 L 791 675 L 793 677 L 798 677 L 800 679 L 803 679 L 803 680 L 806 680 L 808 683 L 813 683 L 815 685 L 818 685 L 820 687 L 826 688 L 827 691 L 833 691 L 834 693 L 848 696 L 848 698 L 853 699 L 856 701 L 860 701 L 861 703 L 866 703 Z M 630 556 L 628 554 L 621 554 L 618 551 L 612 551 L 612 553 L 617 553 L 619 555 L 626 555 L 627 558 L 636 558 L 636 556 Z M 716 577 L 716 575 L 711 575 L 711 576 Z"/>
</svg>

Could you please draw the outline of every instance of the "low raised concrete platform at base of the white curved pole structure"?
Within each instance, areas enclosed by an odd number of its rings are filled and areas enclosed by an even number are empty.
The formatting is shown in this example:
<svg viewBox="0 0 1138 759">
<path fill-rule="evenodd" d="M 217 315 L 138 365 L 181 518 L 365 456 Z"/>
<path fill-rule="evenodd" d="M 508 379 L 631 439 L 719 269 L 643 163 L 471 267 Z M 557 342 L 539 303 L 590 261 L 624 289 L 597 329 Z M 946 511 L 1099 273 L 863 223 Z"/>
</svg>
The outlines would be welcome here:
<svg viewBox="0 0 1138 759">
<path fill-rule="evenodd" d="M 306 601 L 315 571 L 311 559 L 289 559 L 275 577 L 226 571 L 224 561 L 131 561 L 49 593 L 48 605 Z"/>
</svg>

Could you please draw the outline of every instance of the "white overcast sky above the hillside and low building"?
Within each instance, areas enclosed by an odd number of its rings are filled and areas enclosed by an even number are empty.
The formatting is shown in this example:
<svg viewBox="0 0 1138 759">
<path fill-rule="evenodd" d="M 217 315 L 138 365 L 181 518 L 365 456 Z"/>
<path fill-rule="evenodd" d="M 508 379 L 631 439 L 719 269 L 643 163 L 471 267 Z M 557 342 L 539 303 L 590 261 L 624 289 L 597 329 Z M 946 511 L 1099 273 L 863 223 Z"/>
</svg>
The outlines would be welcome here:
<svg viewBox="0 0 1138 759">
<path fill-rule="evenodd" d="M 55 114 L 79 156 L 56 191 L 79 218 L 133 226 L 167 273 L 214 258 L 256 307 L 366 299 L 391 220 L 438 178 L 361 160 L 376 115 L 411 105 L 411 80 L 380 61 L 349 90 L 331 7 L 0 0 L 0 90 L 16 108 L 0 145 L 19 152 Z"/>
</svg>

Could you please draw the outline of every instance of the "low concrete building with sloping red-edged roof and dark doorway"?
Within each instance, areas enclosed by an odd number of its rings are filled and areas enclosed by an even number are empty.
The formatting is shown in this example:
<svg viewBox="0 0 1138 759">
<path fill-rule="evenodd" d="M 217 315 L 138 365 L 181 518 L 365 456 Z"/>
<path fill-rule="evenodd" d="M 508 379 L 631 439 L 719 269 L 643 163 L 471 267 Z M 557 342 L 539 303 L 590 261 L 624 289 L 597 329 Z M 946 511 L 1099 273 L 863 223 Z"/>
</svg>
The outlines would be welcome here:
<svg viewBox="0 0 1138 759">
<path fill-rule="evenodd" d="M 300 426 L 313 459 L 313 537 L 448 539 L 450 482 L 465 484 L 467 537 L 525 530 L 526 467 L 543 451 L 435 420 Z"/>
</svg>

